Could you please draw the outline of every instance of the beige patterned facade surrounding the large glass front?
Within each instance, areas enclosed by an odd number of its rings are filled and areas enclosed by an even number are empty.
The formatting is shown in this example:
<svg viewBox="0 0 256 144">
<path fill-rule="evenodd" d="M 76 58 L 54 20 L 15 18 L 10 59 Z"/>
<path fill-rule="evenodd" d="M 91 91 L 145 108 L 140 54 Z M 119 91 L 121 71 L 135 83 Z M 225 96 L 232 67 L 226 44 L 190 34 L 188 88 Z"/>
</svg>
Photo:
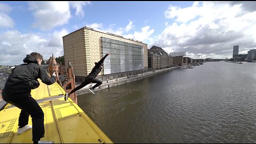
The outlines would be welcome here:
<svg viewBox="0 0 256 144">
<path fill-rule="evenodd" d="M 101 37 L 143 46 L 143 66 L 145 69 L 148 68 L 147 44 L 89 27 L 83 27 L 62 37 L 65 67 L 67 67 L 70 61 L 73 65 L 75 76 L 87 76 L 94 67 L 94 62 L 98 62 L 106 54 L 102 53 Z M 103 70 L 99 75 L 103 75 Z"/>
</svg>

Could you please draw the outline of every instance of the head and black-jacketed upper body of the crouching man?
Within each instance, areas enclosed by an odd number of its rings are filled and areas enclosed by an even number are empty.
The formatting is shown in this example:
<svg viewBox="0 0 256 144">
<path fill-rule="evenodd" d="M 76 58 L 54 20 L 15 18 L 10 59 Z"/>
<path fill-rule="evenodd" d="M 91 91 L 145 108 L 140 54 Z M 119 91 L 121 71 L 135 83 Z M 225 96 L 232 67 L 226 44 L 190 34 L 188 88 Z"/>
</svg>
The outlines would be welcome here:
<svg viewBox="0 0 256 144">
<path fill-rule="evenodd" d="M 22 65 L 16 66 L 8 77 L 2 91 L 3 99 L 22 99 L 30 96 L 31 82 L 41 79 L 43 83 L 51 85 L 56 82 L 55 76 L 49 76 L 37 60 L 30 54 L 23 59 Z"/>
</svg>

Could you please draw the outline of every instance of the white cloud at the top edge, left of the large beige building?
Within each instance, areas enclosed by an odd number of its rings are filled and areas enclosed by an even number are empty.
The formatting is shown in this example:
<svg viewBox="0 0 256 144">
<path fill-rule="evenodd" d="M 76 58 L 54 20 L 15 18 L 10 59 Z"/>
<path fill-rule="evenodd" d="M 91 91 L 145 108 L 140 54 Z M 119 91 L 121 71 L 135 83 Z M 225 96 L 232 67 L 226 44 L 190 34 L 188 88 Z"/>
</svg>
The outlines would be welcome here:
<svg viewBox="0 0 256 144">
<path fill-rule="evenodd" d="M 71 18 L 68 2 L 28 2 L 29 10 L 33 11 L 35 22 L 33 27 L 50 30 L 64 25 Z"/>
</svg>

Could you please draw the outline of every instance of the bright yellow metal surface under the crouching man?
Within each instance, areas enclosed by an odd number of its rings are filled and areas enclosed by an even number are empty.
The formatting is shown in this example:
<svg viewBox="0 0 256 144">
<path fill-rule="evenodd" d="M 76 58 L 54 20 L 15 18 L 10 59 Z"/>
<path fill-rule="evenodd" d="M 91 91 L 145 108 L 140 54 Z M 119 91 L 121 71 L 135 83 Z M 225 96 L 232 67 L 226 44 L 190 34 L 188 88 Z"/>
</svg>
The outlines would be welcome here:
<svg viewBox="0 0 256 144">
<path fill-rule="evenodd" d="M 45 137 L 54 143 L 113 143 L 70 98 L 58 83 L 40 86 L 31 95 L 44 111 Z M 51 98 L 51 99 L 47 99 Z M 20 109 L 7 104 L 0 111 L 0 143 L 33 143 L 32 131 L 17 135 Z M 29 117 L 29 125 L 32 125 Z"/>
</svg>

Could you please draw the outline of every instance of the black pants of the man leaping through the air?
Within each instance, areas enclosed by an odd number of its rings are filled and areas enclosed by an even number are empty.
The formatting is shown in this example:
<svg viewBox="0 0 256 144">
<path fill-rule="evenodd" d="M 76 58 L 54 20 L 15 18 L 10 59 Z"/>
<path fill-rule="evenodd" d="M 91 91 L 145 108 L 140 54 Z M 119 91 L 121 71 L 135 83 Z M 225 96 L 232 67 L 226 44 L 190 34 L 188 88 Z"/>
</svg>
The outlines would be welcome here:
<svg viewBox="0 0 256 144">
<path fill-rule="evenodd" d="M 77 90 L 82 89 L 84 86 L 86 86 L 87 84 L 90 84 L 90 83 L 97 83 L 92 87 L 92 89 L 95 89 L 95 87 L 100 86 L 102 84 L 102 82 L 99 79 L 91 77 L 91 76 L 86 76 L 84 82 L 81 85 L 78 85 L 77 87 L 75 87 L 75 89 L 73 89 L 70 92 L 70 94 L 76 92 Z"/>
</svg>

